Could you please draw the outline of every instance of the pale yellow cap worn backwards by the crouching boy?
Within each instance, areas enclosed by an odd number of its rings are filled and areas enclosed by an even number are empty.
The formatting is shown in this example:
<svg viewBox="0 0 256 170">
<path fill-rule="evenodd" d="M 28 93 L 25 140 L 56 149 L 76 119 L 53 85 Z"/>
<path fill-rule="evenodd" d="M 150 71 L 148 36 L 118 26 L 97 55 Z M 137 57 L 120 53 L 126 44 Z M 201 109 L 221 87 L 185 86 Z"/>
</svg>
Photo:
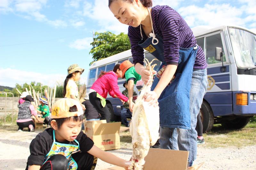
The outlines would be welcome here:
<svg viewBox="0 0 256 170">
<path fill-rule="evenodd" d="M 69 112 L 69 108 L 76 106 L 76 112 Z M 84 111 L 78 100 L 63 98 L 54 103 L 52 106 L 52 115 L 51 118 L 66 118 L 72 116 L 83 115 Z"/>
</svg>

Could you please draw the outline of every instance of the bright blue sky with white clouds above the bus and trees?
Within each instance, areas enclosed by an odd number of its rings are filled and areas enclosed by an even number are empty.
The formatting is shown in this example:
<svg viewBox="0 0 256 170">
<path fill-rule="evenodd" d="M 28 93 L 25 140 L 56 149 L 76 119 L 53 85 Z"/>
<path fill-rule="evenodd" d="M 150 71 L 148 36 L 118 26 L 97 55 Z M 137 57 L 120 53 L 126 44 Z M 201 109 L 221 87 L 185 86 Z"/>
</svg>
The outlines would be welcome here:
<svg viewBox="0 0 256 170">
<path fill-rule="evenodd" d="M 153 0 L 169 5 L 188 25 L 238 25 L 256 32 L 255 0 Z M 84 68 L 86 83 L 93 32 L 127 33 L 106 0 L 0 0 L 0 85 L 62 84 L 68 66 Z"/>
</svg>

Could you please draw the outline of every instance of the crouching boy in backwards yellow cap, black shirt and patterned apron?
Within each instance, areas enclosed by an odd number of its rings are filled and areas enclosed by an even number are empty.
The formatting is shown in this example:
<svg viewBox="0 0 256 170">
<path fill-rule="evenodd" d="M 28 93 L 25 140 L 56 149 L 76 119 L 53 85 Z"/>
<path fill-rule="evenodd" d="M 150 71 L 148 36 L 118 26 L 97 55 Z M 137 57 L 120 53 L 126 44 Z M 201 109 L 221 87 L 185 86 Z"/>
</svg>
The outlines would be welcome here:
<svg viewBox="0 0 256 170">
<path fill-rule="evenodd" d="M 26 170 L 91 170 L 97 158 L 128 169 L 130 161 L 102 151 L 81 131 L 83 109 L 63 98 L 52 106 L 51 128 L 32 140 Z"/>
</svg>

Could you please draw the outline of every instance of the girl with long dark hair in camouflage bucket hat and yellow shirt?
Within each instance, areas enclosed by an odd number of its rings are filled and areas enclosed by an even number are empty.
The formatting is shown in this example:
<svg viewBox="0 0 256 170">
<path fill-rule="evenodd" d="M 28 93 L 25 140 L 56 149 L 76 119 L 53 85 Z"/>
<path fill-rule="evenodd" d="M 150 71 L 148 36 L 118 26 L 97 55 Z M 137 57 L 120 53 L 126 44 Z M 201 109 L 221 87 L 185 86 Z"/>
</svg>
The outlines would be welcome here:
<svg viewBox="0 0 256 170">
<path fill-rule="evenodd" d="M 68 67 L 68 75 L 64 81 L 63 97 L 71 98 L 79 101 L 79 93 L 76 82 L 80 80 L 80 77 L 84 69 L 79 67 L 77 64 L 72 64 Z M 83 110 L 85 106 L 81 104 Z"/>
</svg>

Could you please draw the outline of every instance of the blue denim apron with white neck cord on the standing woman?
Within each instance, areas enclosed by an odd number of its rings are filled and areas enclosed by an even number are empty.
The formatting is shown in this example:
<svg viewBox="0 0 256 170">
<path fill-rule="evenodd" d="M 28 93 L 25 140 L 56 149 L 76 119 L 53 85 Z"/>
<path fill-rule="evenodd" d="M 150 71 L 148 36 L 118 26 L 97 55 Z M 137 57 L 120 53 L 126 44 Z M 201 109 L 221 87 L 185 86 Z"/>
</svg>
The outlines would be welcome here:
<svg viewBox="0 0 256 170">
<path fill-rule="evenodd" d="M 161 67 L 159 68 L 159 70 L 161 70 L 163 65 L 166 65 L 166 62 L 164 61 L 163 40 L 160 36 L 154 33 L 153 22 L 149 9 L 148 12 L 151 19 L 153 33 L 150 33 L 150 37 L 144 41 L 140 26 L 142 40 L 138 45 L 146 49 L 162 62 Z M 165 87 L 164 91 L 158 98 L 160 126 L 162 127 L 191 129 L 189 92 L 197 47 L 198 46 L 196 45 L 191 48 L 179 49 L 179 62 L 174 74 L 175 78 L 172 80 L 170 85 Z M 155 77 L 151 90 L 155 89 L 158 82 L 159 78 Z"/>
</svg>

